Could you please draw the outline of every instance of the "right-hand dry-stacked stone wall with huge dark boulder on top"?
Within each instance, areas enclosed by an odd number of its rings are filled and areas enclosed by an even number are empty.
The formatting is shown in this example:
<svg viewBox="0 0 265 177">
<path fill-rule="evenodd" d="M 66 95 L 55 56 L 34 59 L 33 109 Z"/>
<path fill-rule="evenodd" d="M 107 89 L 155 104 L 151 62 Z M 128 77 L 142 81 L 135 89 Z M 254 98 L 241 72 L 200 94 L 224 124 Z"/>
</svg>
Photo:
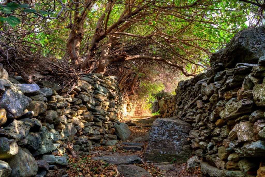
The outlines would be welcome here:
<svg viewBox="0 0 265 177">
<path fill-rule="evenodd" d="M 211 69 L 181 81 L 163 117 L 192 125 L 190 145 L 210 176 L 265 176 L 265 27 L 240 31 L 210 58 Z M 189 164 L 188 164 L 189 166 Z"/>
</svg>

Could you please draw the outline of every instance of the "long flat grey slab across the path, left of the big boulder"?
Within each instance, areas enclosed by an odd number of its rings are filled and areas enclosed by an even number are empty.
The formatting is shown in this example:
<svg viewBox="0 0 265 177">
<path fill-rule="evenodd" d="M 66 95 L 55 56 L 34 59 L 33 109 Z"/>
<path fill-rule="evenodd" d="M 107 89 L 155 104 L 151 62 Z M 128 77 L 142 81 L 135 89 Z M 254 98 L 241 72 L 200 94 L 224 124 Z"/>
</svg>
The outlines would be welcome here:
<svg viewBox="0 0 265 177">
<path fill-rule="evenodd" d="M 104 162 L 116 165 L 141 162 L 140 157 L 138 157 L 137 155 L 103 156 L 103 157 L 92 157 L 92 159 L 96 161 L 103 160 Z"/>
</svg>

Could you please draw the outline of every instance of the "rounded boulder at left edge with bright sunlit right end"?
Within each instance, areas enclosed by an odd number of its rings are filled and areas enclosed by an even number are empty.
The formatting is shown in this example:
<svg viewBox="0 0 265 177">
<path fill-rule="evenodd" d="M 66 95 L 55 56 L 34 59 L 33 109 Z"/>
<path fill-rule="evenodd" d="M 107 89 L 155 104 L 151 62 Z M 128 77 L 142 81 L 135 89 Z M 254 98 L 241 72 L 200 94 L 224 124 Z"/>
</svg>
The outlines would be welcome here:
<svg viewBox="0 0 265 177">
<path fill-rule="evenodd" d="M 0 137 L 0 159 L 8 159 L 18 153 L 18 145 L 15 140 Z"/>
</svg>

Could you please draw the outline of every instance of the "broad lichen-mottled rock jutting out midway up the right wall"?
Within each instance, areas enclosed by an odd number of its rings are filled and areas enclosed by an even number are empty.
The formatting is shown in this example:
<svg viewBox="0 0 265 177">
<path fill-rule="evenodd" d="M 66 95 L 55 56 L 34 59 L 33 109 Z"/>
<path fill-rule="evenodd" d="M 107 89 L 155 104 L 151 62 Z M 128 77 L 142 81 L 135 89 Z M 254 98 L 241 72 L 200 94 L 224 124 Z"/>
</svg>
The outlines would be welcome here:
<svg viewBox="0 0 265 177">
<path fill-rule="evenodd" d="M 220 117 L 224 120 L 234 119 L 242 114 L 252 112 L 253 106 L 254 102 L 251 99 L 242 99 L 236 102 L 236 98 L 232 98 L 220 112 Z"/>
</svg>

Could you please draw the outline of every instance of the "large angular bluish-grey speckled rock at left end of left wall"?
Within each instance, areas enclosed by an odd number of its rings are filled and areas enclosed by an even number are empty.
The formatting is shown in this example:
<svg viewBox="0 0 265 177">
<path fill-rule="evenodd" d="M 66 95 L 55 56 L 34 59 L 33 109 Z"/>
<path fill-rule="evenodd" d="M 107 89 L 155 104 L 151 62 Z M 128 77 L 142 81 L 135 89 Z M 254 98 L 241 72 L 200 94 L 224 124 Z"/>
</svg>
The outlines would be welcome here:
<svg viewBox="0 0 265 177">
<path fill-rule="evenodd" d="M 25 96 L 21 91 L 8 89 L 0 98 L 0 107 L 7 111 L 7 118 L 16 119 L 23 115 L 31 99 Z"/>
</svg>

